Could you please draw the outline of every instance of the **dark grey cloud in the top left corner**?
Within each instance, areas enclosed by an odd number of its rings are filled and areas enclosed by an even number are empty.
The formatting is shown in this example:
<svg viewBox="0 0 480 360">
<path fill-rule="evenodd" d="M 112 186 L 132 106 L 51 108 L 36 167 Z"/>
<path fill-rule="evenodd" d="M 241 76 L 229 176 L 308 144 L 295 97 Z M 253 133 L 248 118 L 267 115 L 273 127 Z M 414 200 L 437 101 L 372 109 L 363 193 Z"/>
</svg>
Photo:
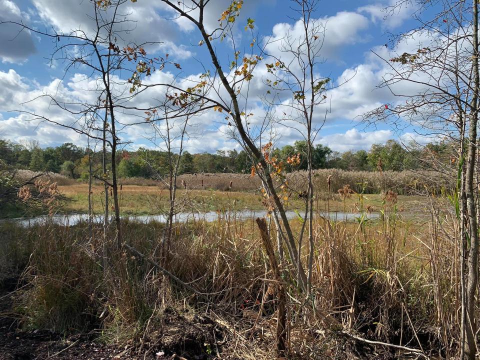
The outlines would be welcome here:
<svg viewBox="0 0 480 360">
<path fill-rule="evenodd" d="M 22 17 L 28 19 L 28 16 L 22 14 L 13 1 L 0 0 L 0 22 L 19 22 Z M 0 58 L 2 61 L 21 62 L 36 51 L 29 31 L 21 30 L 15 24 L 3 23 L 0 25 L 0 32 Z"/>
</svg>

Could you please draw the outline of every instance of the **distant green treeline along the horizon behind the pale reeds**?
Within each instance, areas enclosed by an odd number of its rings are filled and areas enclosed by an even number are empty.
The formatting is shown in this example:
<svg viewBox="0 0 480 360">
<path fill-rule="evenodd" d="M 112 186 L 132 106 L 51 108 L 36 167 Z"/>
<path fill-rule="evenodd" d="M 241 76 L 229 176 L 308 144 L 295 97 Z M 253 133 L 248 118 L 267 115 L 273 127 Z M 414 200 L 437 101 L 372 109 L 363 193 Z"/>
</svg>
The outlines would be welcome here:
<svg viewBox="0 0 480 360">
<path fill-rule="evenodd" d="M 454 146 L 449 142 L 429 143 L 425 146 L 405 148 L 396 140 L 373 144 L 368 151 L 332 151 L 318 144 L 311 148 L 313 168 L 338 168 L 343 170 L 409 170 L 425 167 L 435 161 L 447 164 Z M 275 148 L 270 156 L 284 161 L 286 170 L 306 169 L 307 144 L 295 141 L 293 145 Z M 300 154 L 295 166 L 287 164 L 289 156 Z M 119 151 L 116 156 L 118 177 L 158 177 L 168 173 L 178 154 L 140 147 L 136 151 Z M 51 171 L 72 178 L 88 178 L 91 171 L 101 176 L 101 151 L 93 151 L 66 142 L 56 147 L 41 148 L 38 144 L 22 145 L 0 139 L 0 159 L 8 166 L 32 171 Z M 184 151 L 179 161 L 179 173 L 249 172 L 251 160 L 245 151 L 218 150 L 216 153 Z"/>
</svg>

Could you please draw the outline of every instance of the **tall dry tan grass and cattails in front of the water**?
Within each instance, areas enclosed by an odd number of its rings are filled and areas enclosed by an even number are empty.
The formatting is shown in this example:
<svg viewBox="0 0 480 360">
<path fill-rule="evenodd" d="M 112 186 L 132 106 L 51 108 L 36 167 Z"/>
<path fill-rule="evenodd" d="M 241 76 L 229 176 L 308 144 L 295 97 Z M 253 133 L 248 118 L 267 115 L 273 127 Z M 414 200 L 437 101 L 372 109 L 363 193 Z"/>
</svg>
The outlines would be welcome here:
<svg viewBox="0 0 480 360">
<path fill-rule="evenodd" d="M 341 329 L 435 355 L 454 352 L 459 295 L 456 237 L 445 221 L 450 220 L 449 213 L 436 212 L 425 223 L 409 222 L 391 198 L 385 198 L 382 211 L 378 221 L 316 218 L 315 290 L 305 302 L 294 285 L 288 288 L 292 358 L 358 356 L 355 343 L 343 337 Z M 295 231 L 300 225 L 300 220 L 292 221 Z M 127 244 L 161 263 L 162 224 L 124 221 L 122 226 Z M 158 339 L 162 346 L 180 348 L 171 333 L 165 335 L 171 323 L 164 319 L 171 317 L 171 311 L 179 314 L 175 315 L 178 327 L 178 318 L 186 326 L 207 314 L 221 332 L 221 345 L 197 331 L 194 336 L 204 342 L 195 351 L 205 356 L 218 351 L 218 358 L 271 358 L 275 297 L 268 259 L 252 219 L 236 218 L 228 210 L 210 223 L 175 224 L 168 270 L 209 301 L 130 253 L 114 256 L 105 273 L 102 229 L 95 226 L 91 239 L 87 228 L 86 223 L 45 224 L 30 228 L 24 236 L 9 225 L 3 246 L 7 244 L 8 253 L 17 253 L 11 257 L 16 266 L 27 263 L 22 275 L 25 285 L 16 295 L 24 326 L 62 332 L 95 327 L 105 341 L 124 344 L 157 336 L 163 339 Z M 301 250 L 304 262 L 307 247 Z M 10 266 L 15 266 L 13 262 Z M 183 330 L 178 331 L 175 341 L 184 344 Z"/>
</svg>

